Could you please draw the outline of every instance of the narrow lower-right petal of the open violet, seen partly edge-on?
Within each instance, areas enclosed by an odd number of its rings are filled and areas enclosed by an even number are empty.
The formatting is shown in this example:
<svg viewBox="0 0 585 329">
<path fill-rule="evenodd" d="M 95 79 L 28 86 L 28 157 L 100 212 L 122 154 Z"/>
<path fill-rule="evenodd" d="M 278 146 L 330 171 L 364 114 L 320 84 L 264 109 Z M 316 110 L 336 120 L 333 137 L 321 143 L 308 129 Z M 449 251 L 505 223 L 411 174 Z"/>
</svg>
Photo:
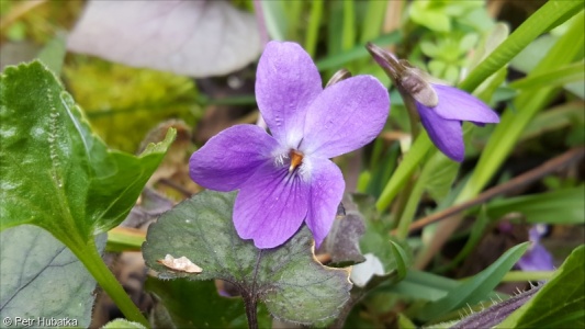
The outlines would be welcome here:
<svg viewBox="0 0 585 329">
<path fill-rule="evenodd" d="M 346 182 L 339 168 L 328 159 L 310 159 L 311 195 L 306 225 L 315 237 L 316 248 L 329 232 L 344 196 Z"/>
</svg>

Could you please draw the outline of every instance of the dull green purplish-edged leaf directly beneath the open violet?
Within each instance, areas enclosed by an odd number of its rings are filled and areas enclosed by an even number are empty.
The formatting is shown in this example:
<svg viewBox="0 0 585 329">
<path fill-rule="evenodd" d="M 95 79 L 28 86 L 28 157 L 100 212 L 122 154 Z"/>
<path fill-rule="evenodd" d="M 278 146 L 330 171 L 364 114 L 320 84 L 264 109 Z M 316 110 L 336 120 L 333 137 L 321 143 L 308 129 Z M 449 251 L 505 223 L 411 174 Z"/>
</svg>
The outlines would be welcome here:
<svg viewBox="0 0 585 329">
<path fill-rule="evenodd" d="M 232 223 L 236 193 L 204 191 L 165 213 L 148 229 L 143 254 L 162 279 L 222 279 L 248 300 L 262 300 L 277 318 L 323 324 L 337 316 L 349 298 L 348 271 L 318 263 L 305 227 L 274 249 L 241 240 Z M 159 263 L 167 254 L 185 257 L 201 273 Z"/>
</svg>

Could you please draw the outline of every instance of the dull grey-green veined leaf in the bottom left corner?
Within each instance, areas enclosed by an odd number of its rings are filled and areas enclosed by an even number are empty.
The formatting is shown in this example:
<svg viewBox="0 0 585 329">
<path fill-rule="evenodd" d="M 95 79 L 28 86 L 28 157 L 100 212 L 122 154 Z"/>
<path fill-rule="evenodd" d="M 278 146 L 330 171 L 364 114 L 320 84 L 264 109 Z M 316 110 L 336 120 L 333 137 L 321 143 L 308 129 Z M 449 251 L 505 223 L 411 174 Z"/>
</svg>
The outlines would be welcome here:
<svg viewBox="0 0 585 329">
<path fill-rule="evenodd" d="M 69 318 L 76 326 L 89 327 L 95 280 L 74 253 L 35 226 L 13 227 L 0 237 L 0 317 Z M 105 236 L 99 237 L 100 251 L 104 245 Z M 32 327 L 44 326 L 34 322 Z"/>
</svg>

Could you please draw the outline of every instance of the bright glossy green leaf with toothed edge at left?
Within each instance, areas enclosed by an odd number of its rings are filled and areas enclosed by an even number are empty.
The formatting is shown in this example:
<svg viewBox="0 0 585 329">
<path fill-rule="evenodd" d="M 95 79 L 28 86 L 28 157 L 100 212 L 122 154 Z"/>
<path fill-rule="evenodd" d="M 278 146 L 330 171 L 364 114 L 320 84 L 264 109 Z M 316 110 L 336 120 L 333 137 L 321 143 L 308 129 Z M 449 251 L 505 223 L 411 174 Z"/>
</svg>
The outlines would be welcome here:
<svg viewBox="0 0 585 329">
<path fill-rule="evenodd" d="M 0 229 L 33 224 L 66 245 L 120 224 L 175 138 L 138 157 L 108 150 L 38 61 L 4 70 L 0 102 Z"/>
</svg>

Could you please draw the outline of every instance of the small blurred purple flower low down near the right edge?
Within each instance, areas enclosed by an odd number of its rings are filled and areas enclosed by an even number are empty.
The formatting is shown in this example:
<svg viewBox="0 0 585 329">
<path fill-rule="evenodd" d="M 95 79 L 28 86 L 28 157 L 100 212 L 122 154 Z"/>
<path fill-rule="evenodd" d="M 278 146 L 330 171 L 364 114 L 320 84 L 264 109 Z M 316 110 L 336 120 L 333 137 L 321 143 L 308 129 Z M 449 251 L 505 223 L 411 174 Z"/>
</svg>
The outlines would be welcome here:
<svg viewBox="0 0 585 329">
<path fill-rule="evenodd" d="M 518 260 L 516 265 L 522 271 L 553 271 L 554 263 L 552 256 L 540 245 L 540 237 L 544 235 L 547 227 L 542 224 L 537 224 L 528 231 L 530 242 L 532 245 L 528 251 Z"/>
</svg>

